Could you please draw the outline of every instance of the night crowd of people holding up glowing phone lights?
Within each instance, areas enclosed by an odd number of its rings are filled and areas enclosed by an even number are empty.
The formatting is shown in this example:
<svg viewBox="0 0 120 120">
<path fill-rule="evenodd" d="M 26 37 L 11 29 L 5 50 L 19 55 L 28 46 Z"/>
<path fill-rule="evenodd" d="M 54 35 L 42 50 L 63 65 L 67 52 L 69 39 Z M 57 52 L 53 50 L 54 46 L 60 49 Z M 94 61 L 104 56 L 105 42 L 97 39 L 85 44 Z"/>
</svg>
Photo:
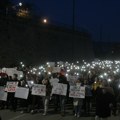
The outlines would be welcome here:
<svg viewBox="0 0 120 120">
<path fill-rule="evenodd" d="M 23 66 L 23 64 L 22 64 Z M 53 70 L 50 63 L 37 68 L 24 68 L 24 77 L 21 80 L 17 79 L 17 74 L 13 77 L 5 73 L 1 73 L 0 86 L 6 87 L 8 81 L 17 81 L 18 86 L 27 87 L 30 89 L 28 99 L 15 98 L 15 93 L 8 93 L 7 101 L 0 101 L 1 109 L 10 109 L 16 111 L 21 108 L 21 113 L 35 113 L 43 109 L 43 115 L 47 115 L 49 103 L 54 105 L 54 112 L 59 112 L 65 116 L 65 106 L 67 103 L 72 103 L 75 117 L 81 115 L 90 115 L 92 105 L 95 105 L 95 119 L 110 117 L 111 113 L 117 115 L 117 105 L 120 102 L 119 92 L 119 61 L 94 61 L 91 63 L 83 62 L 80 66 L 76 64 L 57 63 L 54 65 L 57 68 Z M 60 68 L 58 70 L 58 68 Z M 54 71 L 54 72 L 53 72 Z M 31 81 L 28 84 L 27 81 Z M 55 83 L 67 85 L 67 94 L 56 95 L 51 94 Z M 31 94 L 32 85 L 46 85 L 46 96 L 35 96 Z M 70 86 L 85 87 L 84 98 L 70 98 Z"/>
</svg>

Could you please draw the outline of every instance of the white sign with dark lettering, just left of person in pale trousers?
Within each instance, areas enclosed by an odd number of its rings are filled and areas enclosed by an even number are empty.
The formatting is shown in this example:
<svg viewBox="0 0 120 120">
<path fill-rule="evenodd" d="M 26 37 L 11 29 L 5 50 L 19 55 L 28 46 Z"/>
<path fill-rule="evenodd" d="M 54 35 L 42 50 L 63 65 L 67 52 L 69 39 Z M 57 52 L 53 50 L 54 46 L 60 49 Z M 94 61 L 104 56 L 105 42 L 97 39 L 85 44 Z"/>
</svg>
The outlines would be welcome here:
<svg viewBox="0 0 120 120">
<path fill-rule="evenodd" d="M 46 85 L 34 84 L 32 95 L 46 96 Z"/>
</svg>

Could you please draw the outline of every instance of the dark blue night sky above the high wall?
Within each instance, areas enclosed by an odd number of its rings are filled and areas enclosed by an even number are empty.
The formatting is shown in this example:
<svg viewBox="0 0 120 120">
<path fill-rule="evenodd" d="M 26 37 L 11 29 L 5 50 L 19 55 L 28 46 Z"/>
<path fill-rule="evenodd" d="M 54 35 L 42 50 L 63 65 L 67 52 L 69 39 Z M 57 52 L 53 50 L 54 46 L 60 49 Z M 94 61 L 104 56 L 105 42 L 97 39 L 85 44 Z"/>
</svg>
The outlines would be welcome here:
<svg viewBox="0 0 120 120">
<path fill-rule="evenodd" d="M 20 0 L 13 0 L 15 3 Z M 49 21 L 72 26 L 73 0 L 21 0 Z M 76 29 L 85 28 L 95 41 L 120 42 L 120 0 L 75 0 Z M 102 39 L 100 39 L 102 33 Z"/>
</svg>

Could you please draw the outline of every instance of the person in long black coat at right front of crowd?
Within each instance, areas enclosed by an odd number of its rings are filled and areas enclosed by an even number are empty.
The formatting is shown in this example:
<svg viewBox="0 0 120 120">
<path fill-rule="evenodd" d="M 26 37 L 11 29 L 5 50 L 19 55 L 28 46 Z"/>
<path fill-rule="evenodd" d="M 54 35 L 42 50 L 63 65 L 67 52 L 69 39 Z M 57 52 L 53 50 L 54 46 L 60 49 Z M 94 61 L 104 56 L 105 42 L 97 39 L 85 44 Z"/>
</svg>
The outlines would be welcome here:
<svg viewBox="0 0 120 120">
<path fill-rule="evenodd" d="M 99 118 L 107 120 L 111 115 L 110 105 L 114 101 L 114 91 L 109 87 L 107 80 L 102 81 L 101 88 L 96 89 L 96 116 L 95 120 Z"/>
</svg>

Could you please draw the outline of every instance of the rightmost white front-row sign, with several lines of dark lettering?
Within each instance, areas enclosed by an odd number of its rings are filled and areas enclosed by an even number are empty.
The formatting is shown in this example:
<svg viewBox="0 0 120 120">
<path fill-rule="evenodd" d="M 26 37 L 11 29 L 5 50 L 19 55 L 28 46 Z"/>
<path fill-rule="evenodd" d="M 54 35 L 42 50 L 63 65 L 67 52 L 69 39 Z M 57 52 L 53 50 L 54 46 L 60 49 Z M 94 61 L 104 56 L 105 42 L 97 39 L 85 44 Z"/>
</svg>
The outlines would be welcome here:
<svg viewBox="0 0 120 120">
<path fill-rule="evenodd" d="M 70 86 L 69 97 L 85 98 L 85 87 Z"/>
</svg>

